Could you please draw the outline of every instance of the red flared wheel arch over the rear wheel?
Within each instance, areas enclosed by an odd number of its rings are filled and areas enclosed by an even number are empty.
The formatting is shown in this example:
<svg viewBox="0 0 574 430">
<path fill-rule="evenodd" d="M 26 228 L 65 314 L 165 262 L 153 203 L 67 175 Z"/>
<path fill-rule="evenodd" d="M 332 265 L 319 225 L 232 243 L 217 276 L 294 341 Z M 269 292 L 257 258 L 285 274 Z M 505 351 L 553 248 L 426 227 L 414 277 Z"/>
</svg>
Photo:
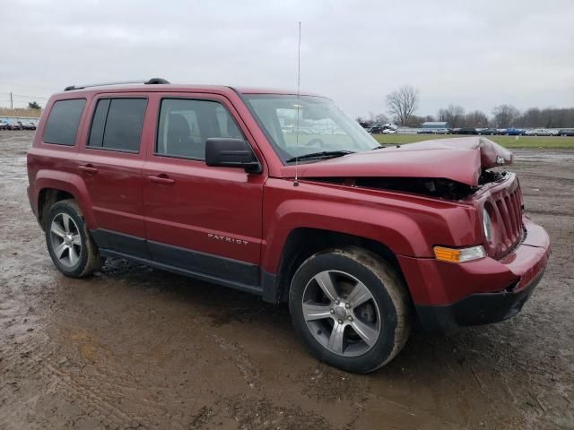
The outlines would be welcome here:
<svg viewBox="0 0 574 430">
<path fill-rule="evenodd" d="M 41 190 L 46 188 L 62 190 L 74 196 L 75 201 L 78 202 L 82 210 L 83 219 L 85 219 L 88 228 L 95 229 L 98 227 L 93 211 L 91 210 L 90 194 L 83 182 L 82 176 L 58 170 L 41 169 L 36 174 L 33 184 L 34 188 L 31 197 L 37 207 Z"/>
</svg>

